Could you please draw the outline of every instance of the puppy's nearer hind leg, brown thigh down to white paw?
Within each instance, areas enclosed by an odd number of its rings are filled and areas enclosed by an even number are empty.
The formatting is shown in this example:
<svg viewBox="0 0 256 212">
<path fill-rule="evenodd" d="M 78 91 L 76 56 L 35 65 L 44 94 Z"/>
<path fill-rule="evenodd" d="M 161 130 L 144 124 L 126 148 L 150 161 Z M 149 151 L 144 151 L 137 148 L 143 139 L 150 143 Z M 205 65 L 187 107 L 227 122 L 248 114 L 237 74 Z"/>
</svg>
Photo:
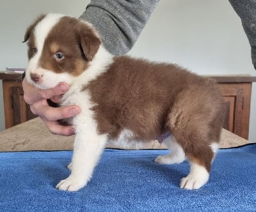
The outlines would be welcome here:
<svg viewBox="0 0 256 212">
<path fill-rule="evenodd" d="M 204 103 L 205 100 L 199 101 L 190 96 L 189 93 L 182 93 L 176 99 L 167 123 L 190 163 L 188 176 L 180 182 L 180 188 L 188 190 L 198 189 L 209 180 L 221 130 L 218 109 Z M 192 103 L 188 105 L 187 102 Z"/>
</svg>

